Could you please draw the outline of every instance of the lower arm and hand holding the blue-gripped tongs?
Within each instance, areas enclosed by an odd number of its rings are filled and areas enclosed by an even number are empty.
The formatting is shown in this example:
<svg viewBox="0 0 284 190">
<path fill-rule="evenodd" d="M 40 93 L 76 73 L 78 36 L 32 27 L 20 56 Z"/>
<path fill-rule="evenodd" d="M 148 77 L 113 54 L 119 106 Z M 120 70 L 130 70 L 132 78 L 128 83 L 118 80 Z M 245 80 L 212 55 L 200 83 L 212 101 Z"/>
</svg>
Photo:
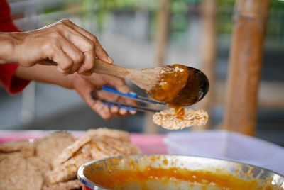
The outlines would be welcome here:
<svg viewBox="0 0 284 190">
<path fill-rule="evenodd" d="M 102 86 L 111 86 L 123 93 L 130 91 L 126 86 L 124 79 L 119 77 L 112 77 L 106 74 L 92 74 L 90 76 L 83 76 L 77 73 L 68 74 L 63 76 L 60 72 L 57 72 L 56 67 L 50 67 L 46 65 L 35 65 L 33 67 L 21 67 L 16 70 L 15 77 L 26 80 L 35 80 L 38 82 L 45 82 L 48 84 L 57 84 L 67 89 L 75 89 L 82 99 L 102 118 L 109 119 L 111 116 L 121 116 L 129 114 L 129 111 L 119 109 L 117 107 L 104 106 L 100 101 L 94 101 L 90 92 L 93 89 L 101 89 Z M 98 94 L 99 96 L 105 96 L 103 92 Z M 109 96 L 108 99 L 112 101 L 121 101 L 128 104 L 136 104 L 135 101 L 130 99 L 123 99 L 121 96 Z M 135 113 L 135 112 L 130 112 Z"/>
</svg>

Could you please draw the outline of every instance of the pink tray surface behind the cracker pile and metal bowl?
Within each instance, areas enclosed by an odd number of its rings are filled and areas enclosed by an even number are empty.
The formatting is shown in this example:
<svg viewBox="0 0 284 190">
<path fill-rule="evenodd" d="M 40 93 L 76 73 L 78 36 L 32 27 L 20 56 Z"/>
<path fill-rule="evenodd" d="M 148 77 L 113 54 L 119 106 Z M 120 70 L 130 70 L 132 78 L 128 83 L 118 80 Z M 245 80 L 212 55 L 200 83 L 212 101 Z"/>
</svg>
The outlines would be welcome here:
<svg viewBox="0 0 284 190">
<path fill-rule="evenodd" d="M 0 143 L 11 140 L 42 138 L 51 130 L 0 130 Z M 80 138 L 86 131 L 69 131 L 75 138 Z M 131 142 L 141 148 L 143 154 L 166 154 L 167 146 L 163 143 L 165 135 L 146 135 L 131 133 Z"/>
</svg>

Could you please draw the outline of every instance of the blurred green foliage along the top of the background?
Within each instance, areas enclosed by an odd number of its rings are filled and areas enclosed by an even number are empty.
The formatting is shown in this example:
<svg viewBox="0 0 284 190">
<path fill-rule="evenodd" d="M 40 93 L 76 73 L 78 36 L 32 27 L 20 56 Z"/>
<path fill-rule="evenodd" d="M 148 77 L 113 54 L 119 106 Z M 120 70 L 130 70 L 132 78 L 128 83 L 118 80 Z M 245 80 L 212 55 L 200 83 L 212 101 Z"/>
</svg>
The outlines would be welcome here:
<svg viewBox="0 0 284 190">
<path fill-rule="evenodd" d="M 99 30 L 103 29 L 103 23 L 107 16 L 114 11 L 130 11 L 137 9 L 148 11 L 149 25 L 154 30 L 155 14 L 160 7 L 161 0 L 61 0 L 53 9 L 43 9 L 43 13 L 65 11 L 70 4 L 81 6 L 82 16 L 94 16 Z M 170 33 L 184 33 L 190 21 L 189 8 L 192 1 L 201 0 L 172 0 L 170 4 Z M 197 4 L 195 2 L 195 4 Z M 217 7 L 217 32 L 231 33 L 233 27 L 233 13 L 235 0 L 218 0 Z M 150 33 L 153 33 L 150 31 Z M 268 23 L 266 27 L 268 35 L 284 35 L 284 1 L 271 0 Z"/>
</svg>

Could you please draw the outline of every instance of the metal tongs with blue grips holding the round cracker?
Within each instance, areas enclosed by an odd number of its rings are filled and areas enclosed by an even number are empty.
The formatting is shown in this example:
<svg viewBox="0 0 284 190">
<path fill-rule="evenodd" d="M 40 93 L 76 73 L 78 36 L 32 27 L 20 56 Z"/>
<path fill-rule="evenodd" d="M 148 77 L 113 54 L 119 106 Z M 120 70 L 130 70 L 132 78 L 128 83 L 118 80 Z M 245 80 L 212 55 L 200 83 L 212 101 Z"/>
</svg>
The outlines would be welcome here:
<svg viewBox="0 0 284 190">
<path fill-rule="evenodd" d="M 107 91 L 111 94 L 116 94 L 119 96 L 124 96 L 128 99 L 133 99 L 136 100 L 138 102 L 142 102 L 142 103 L 146 103 L 146 104 L 154 104 L 154 105 L 158 105 L 158 106 L 166 106 L 167 104 L 161 102 L 161 101 L 155 101 L 153 99 L 148 99 L 146 97 L 143 96 L 138 96 L 138 94 L 134 93 L 134 92 L 129 92 L 129 93 L 122 93 L 120 91 L 117 91 L 116 89 L 113 89 L 111 87 L 108 86 L 103 86 L 102 89 L 97 90 L 94 89 L 91 91 L 91 96 L 92 99 L 94 99 L 95 101 L 102 101 L 104 104 L 106 104 L 107 106 L 118 106 L 119 108 L 124 108 L 128 111 L 151 111 L 151 112 L 157 112 L 157 111 L 161 111 L 161 109 L 155 109 L 155 108 L 148 108 L 146 106 L 134 106 L 131 104 L 124 104 L 121 102 L 117 102 L 117 101 L 109 101 L 109 100 L 104 100 L 104 99 L 98 99 L 97 97 L 97 91 Z"/>
</svg>

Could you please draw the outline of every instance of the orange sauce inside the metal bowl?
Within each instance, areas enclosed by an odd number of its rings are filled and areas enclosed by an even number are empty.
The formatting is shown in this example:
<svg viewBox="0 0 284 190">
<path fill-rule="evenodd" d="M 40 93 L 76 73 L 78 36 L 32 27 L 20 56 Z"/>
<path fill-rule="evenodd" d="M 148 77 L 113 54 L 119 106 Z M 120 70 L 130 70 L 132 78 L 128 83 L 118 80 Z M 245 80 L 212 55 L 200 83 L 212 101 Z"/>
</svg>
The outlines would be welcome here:
<svg viewBox="0 0 284 190">
<path fill-rule="evenodd" d="M 232 174 L 220 174 L 206 171 L 190 171 L 177 167 L 163 169 L 146 167 L 143 171 L 117 171 L 107 174 L 98 172 L 92 176 L 91 181 L 106 187 L 107 189 L 155 189 L 153 186 L 181 187 L 181 189 L 273 189 L 272 186 L 258 186 L 258 180 L 244 180 L 234 177 Z M 160 185 L 163 184 L 163 185 Z M 163 189 L 162 187 L 158 189 Z"/>
</svg>

